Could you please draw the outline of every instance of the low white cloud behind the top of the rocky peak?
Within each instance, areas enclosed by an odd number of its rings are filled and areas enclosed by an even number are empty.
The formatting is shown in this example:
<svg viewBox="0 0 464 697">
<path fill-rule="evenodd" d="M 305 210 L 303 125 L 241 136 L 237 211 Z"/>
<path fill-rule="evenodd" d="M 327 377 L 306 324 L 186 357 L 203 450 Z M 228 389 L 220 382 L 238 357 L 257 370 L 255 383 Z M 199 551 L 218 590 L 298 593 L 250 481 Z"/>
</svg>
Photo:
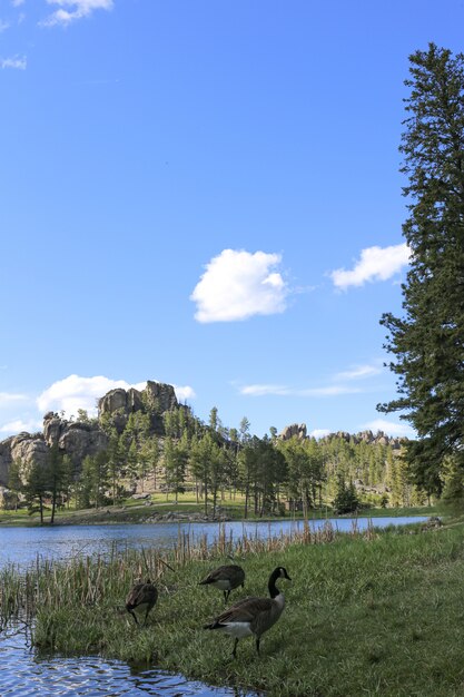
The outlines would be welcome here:
<svg viewBox="0 0 464 697">
<path fill-rule="evenodd" d="M 68 375 L 68 377 L 58 380 L 50 387 L 47 387 L 37 397 L 37 406 L 42 414 L 48 411 L 63 411 L 69 418 L 77 415 L 79 409 L 85 409 L 90 416 L 96 416 L 98 400 L 110 390 L 117 387 L 145 390 L 146 385 L 146 381 L 129 384 L 125 380 L 111 380 L 103 375 L 96 375 L 95 377 Z M 179 401 L 195 397 L 195 392 L 189 386 L 174 385 L 174 389 Z"/>
</svg>

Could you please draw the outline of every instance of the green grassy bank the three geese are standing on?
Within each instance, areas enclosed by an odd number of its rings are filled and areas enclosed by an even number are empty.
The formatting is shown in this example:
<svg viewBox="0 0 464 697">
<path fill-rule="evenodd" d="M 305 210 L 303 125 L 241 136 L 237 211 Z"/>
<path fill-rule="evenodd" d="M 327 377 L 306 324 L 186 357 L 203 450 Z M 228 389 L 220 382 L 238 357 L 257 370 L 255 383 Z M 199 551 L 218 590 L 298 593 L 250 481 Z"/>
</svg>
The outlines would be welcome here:
<svg viewBox="0 0 464 697">
<path fill-rule="evenodd" d="M 233 641 L 201 629 L 221 611 L 223 599 L 198 580 L 227 559 L 226 539 L 213 552 L 179 540 L 174 556 L 165 558 L 172 570 L 154 550 L 128 552 L 108 565 L 76 560 L 42 569 L 36 579 L 33 642 L 42 651 L 155 662 L 269 696 L 464 694 L 462 524 L 417 534 L 369 530 L 342 537 L 327 529 L 318 538 L 302 536 L 287 543 L 284 537 L 245 540 L 236 550 L 247 579 L 245 591 L 234 591 L 231 601 L 266 595 L 267 577 L 277 565 L 293 578 L 280 581 L 287 607 L 264 635 L 260 658 L 254 642 L 244 639 L 233 660 Z M 158 605 L 145 628 L 124 610 L 139 573 L 158 577 Z"/>
</svg>

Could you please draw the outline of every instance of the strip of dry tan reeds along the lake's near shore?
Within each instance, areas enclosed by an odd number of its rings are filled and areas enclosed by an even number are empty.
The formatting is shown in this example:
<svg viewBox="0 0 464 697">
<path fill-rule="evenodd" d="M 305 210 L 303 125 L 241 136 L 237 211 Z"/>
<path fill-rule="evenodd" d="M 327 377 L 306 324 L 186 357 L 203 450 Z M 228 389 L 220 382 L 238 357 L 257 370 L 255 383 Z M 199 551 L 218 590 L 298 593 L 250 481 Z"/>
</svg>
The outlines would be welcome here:
<svg viewBox="0 0 464 697">
<path fill-rule="evenodd" d="M 376 537 L 372 522 L 364 532 L 354 523 L 349 533 L 338 533 L 326 521 L 318 529 L 312 528 L 306 520 L 303 527 L 295 524 L 289 532 L 267 537 L 257 532 L 249 534 L 245 526 L 241 536 L 234 539 L 224 523 L 219 523 L 218 533 L 213 541 L 207 534 L 194 536 L 179 527 L 177 542 L 172 549 L 117 549 L 113 546 L 109 554 L 89 557 L 77 554 L 67 562 L 42 560 L 26 571 L 10 565 L 0 570 L 0 630 L 10 620 L 32 624 L 38 608 L 58 606 L 101 606 L 105 598 L 125 598 L 127 589 L 135 578 L 149 577 L 155 582 L 165 583 L 165 575 L 185 567 L 195 560 L 216 558 L 244 558 L 263 552 L 280 552 L 290 544 L 327 544 L 339 534 L 363 536 L 366 540 Z"/>
</svg>

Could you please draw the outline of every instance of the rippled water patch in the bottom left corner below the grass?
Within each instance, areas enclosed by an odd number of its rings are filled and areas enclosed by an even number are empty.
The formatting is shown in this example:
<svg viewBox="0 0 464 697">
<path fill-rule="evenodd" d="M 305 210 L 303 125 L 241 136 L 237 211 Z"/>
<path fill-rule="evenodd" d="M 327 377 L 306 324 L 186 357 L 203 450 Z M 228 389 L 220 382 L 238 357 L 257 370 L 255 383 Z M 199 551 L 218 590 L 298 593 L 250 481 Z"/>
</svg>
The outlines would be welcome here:
<svg viewBox="0 0 464 697">
<path fill-rule="evenodd" d="M 22 630 L 9 629 L 0 641 L 1 697 L 245 697 L 216 689 L 156 668 L 136 670 L 118 660 L 98 657 L 38 659 Z M 258 697 L 247 693 L 247 697 Z"/>
</svg>

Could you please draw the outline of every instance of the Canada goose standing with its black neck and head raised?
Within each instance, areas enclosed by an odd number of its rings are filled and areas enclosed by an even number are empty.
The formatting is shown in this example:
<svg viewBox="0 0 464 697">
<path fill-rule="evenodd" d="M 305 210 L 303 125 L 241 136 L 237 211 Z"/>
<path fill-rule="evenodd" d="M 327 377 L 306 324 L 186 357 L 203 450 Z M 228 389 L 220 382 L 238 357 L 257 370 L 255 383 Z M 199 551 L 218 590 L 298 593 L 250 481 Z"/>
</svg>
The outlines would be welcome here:
<svg viewBox="0 0 464 697">
<path fill-rule="evenodd" d="M 270 598 L 245 598 L 231 608 L 225 610 L 210 625 L 204 629 L 219 629 L 235 638 L 233 656 L 237 657 L 238 640 L 243 637 L 256 637 L 256 651 L 259 655 L 259 641 L 261 635 L 270 629 L 280 617 L 284 607 L 284 595 L 276 588 L 276 580 L 290 577 L 284 567 L 277 567 L 269 576 L 268 589 Z"/>
</svg>

